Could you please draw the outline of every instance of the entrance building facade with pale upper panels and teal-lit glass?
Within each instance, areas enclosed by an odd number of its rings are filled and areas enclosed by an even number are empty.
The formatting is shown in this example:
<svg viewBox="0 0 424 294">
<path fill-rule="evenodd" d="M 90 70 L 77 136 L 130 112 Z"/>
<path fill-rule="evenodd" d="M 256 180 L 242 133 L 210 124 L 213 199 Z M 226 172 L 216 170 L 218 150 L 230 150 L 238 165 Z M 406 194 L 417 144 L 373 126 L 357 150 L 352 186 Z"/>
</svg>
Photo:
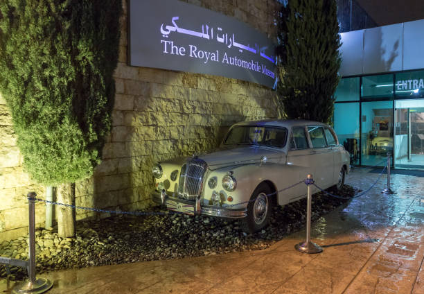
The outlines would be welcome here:
<svg viewBox="0 0 424 294">
<path fill-rule="evenodd" d="M 334 126 L 351 163 L 424 169 L 424 20 L 342 33 Z"/>
</svg>

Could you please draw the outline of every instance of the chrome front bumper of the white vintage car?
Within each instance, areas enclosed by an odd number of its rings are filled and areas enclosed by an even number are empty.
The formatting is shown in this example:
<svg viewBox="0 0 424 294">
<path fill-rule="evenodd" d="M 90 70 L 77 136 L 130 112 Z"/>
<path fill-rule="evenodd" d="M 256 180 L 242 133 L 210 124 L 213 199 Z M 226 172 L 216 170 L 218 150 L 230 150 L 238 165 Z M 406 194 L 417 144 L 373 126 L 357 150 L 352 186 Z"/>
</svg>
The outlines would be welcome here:
<svg viewBox="0 0 424 294">
<path fill-rule="evenodd" d="M 151 196 L 153 202 L 158 205 L 166 207 L 169 210 L 182 212 L 183 214 L 203 214 L 204 216 L 218 216 L 221 218 L 244 218 L 247 216 L 247 209 L 245 208 L 229 209 L 226 207 L 201 205 L 200 198 L 193 202 L 169 196 L 165 191 L 154 191 Z"/>
</svg>

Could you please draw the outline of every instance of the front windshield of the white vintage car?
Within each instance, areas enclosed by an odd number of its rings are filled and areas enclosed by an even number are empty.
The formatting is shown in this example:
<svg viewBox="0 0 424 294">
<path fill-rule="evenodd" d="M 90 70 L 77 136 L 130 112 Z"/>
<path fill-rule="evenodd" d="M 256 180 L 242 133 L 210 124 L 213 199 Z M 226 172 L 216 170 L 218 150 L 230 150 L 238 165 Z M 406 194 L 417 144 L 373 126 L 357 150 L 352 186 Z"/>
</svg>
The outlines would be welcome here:
<svg viewBox="0 0 424 294">
<path fill-rule="evenodd" d="M 229 144 L 249 144 L 283 148 L 287 139 L 287 129 L 264 126 L 236 126 L 224 141 Z"/>
</svg>

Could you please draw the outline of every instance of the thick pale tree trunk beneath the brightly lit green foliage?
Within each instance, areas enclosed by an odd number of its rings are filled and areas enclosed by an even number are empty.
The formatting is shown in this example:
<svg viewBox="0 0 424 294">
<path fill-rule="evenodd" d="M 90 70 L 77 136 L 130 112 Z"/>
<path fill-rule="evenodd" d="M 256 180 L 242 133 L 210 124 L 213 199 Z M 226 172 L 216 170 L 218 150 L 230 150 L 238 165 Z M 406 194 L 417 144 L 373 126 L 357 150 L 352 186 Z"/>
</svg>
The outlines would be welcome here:
<svg viewBox="0 0 424 294">
<path fill-rule="evenodd" d="M 61 184 L 58 186 L 58 202 L 75 205 L 75 193 L 73 193 L 73 184 Z M 75 209 L 56 205 L 58 215 L 58 234 L 62 238 L 75 236 L 76 214 Z"/>
</svg>

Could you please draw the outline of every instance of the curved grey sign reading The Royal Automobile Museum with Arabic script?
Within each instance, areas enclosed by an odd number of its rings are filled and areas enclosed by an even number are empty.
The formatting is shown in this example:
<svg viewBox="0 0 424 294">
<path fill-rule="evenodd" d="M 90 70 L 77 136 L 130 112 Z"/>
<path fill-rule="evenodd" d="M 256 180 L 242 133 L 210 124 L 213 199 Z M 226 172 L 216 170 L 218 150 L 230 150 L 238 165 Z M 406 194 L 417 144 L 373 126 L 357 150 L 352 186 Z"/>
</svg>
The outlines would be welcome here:
<svg viewBox="0 0 424 294">
<path fill-rule="evenodd" d="M 177 0 L 129 1 L 129 63 L 274 87 L 274 44 L 236 19 Z"/>
</svg>

